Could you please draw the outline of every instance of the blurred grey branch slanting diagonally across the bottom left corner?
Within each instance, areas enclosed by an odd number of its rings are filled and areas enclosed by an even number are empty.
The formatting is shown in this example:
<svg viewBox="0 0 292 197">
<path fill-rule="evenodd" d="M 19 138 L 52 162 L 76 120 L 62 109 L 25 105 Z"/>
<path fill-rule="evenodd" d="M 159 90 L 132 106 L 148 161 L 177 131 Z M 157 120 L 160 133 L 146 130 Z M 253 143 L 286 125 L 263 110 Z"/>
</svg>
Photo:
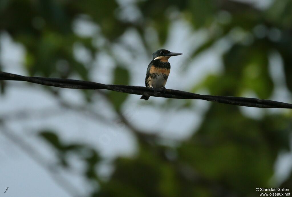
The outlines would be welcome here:
<svg viewBox="0 0 292 197">
<path fill-rule="evenodd" d="M 18 146 L 22 151 L 24 151 L 28 156 L 30 156 L 36 163 L 41 167 L 47 170 L 51 175 L 53 181 L 60 186 L 69 196 L 82 196 L 81 193 L 72 185 L 65 177 L 60 175 L 60 172 L 54 167 L 53 164 L 50 164 L 47 159 L 45 159 L 41 154 L 39 154 L 34 147 L 22 140 L 21 137 L 18 137 L 14 134 L 9 128 L 4 124 L 4 121 L 0 119 L 0 132 Z"/>
</svg>

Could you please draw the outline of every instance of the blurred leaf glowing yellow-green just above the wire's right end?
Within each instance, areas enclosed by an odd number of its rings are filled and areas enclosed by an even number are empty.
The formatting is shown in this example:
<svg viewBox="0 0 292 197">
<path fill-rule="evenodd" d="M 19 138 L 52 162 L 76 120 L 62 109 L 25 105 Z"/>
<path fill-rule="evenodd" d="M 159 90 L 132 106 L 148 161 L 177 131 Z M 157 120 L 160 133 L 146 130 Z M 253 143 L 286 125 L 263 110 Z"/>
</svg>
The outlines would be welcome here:
<svg viewBox="0 0 292 197">
<path fill-rule="evenodd" d="M 260 98 L 270 97 L 273 83 L 269 75 L 267 51 L 262 43 L 256 43 L 252 47 L 233 46 L 224 55 L 224 63 L 227 74 L 233 78 L 230 83 L 235 84 L 234 90 L 239 95 L 250 89 Z"/>
</svg>

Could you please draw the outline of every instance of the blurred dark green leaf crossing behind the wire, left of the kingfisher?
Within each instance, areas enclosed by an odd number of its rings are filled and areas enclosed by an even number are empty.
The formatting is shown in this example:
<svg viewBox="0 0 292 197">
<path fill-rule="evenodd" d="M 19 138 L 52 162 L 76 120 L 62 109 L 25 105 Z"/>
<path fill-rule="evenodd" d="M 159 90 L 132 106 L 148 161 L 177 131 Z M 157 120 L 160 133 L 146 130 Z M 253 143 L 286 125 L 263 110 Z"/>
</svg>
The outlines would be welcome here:
<svg viewBox="0 0 292 197">
<path fill-rule="evenodd" d="M 114 69 L 114 82 L 113 82 L 113 84 L 129 85 L 129 82 L 130 82 L 130 74 L 129 74 L 128 70 L 123 68 L 123 67 L 116 67 Z M 117 111 L 120 111 L 121 105 L 127 99 L 128 94 L 110 91 L 108 96 L 109 96 L 109 99 L 111 100 L 111 102 L 114 106 L 114 109 Z"/>
</svg>

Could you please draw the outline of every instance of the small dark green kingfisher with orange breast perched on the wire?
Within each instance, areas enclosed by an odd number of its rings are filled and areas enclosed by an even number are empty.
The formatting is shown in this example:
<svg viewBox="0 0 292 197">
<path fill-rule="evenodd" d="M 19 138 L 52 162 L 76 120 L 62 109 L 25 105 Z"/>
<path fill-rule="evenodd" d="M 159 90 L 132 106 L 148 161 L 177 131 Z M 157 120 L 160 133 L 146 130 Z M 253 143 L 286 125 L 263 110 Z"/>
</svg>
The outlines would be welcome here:
<svg viewBox="0 0 292 197">
<path fill-rule="evenodd" d="M 170 72 L 169 57 L 176 55 L 183 55 L 183 53 L 172 53 L 169 50 L 160 49 L 154 52 L 153 59 L 148 65 L 145 86 L 152 87 L 155 95 L 157 95 L 157 88 L 163 88 L 165 91 L 165 84 Z M 143 94 L 140 99 L 148 100 L 149 95 Z"/>
</svg>

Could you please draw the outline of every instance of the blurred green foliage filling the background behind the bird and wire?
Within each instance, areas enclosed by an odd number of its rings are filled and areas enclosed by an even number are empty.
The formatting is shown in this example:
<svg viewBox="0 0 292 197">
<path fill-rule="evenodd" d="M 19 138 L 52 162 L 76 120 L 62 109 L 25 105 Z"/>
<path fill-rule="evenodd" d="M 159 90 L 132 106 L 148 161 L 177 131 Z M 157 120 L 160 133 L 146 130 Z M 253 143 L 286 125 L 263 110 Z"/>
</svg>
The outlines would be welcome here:
<svg viewBox="0 0 292 197">
<path fill-rule="evenodd" d="M 121 17 L 123 12 L 126 16 L 134 15 L 126 8 L 135 8 L 136 18 Z M 74 21 L 81 16 L 98 27 L 96 35 L 84 38 L 74 33 Z M 185 69 L 193 65 L 192 60 L 215 51 L 214 46 L 218 47 L 222 40 L 229 45 L 220 52 L 222 62 L 218 65 L 222 63 L 222 72 L 211 72 L 186 90 L 207 90 L 211 95 L 227 96 L 252 92 L 259 98 L 269 99 L 277 88 L 270 74 L 269 58 L 271 52 L 277 52 L 283 62 L 285 82 L 292 92 L 291 0 L 275 0 L 263 10 L 231 0 L 148 0 L 122 6 L 114 0 L 0 1 L 0 29 L 25 47 L 24 68 L 32 76 L 77 76 L 88 80 L 91 63 L 77 61 L 73 51 L 76 43 L 84 46 L 92 59 L 99 52 L 115 54 L 113 46 L 116 45 L 136 55 L 136 48 L 120 42 L 126 31 L 134 29 L 142 43 L 137 48 L 151 55 L 153 48 L 165 46 L 171 33 L 169 27 L 180 20 L 190 24 L 192 31 L 203 30 L 207 35 L 200 46 L 187 51 L 190 61 L 185 61 Z M 157 43 L 149 41 L 146 34 L 149 29 L 154 30 L 154 37 L 157 35 Z M 103 43 L 94 44 L 96 39 Z M 112 83 L 135 85 L 130 84 L 131 72 L 122 66 L 122 60 L 116 57 L 112 60 L 117 65 Z M 4 93 L 10 87 L 1 81 L 0 88 Z M 83 93 L 88 102 L 94 102 L 93 91 Z M 113 112 L 117 116 L 122 114 L 128 94 L 111 91 L 106 96 Z M 178 110 L 197 107 L 192 101 L 165 99 L 155 109 L 157 112 L 163 107 L 173 109 L 174 105 L 179 106 Z M 135 130 L 128 126 L 137 136 L 137 155 L 115 159 L 114 172 L 108 180 L 101 179 L 97 173 L 102 158 L 93 147 L 80 142 L 65 143 L 65 139 L 61 140 L 50 130 L 41 131 L 40 137 L 56 151 L 62 167 L 71 167 L 72 154 L 86 164 L 84 177 L 88 183 L 98 183 L 90 196 L 258 196 L 256 187 L 276 186 L 270 182 L 276 158 L 279 152 L 291 149 L 292 113 L 261 112 L 262 117 L 252 119 L 237 106 L 212 103 L 190 138 L 175 145 L 169 142 L 172 146 L 162 146 L 160 142 L 168 140 L 160 137 L 157 140 L 147 133 L 141 135 L 139 131 L 144 128 L 138 126 Z M 179 124 L 180 120 L 177 121 Z M 291 177 L 279 187 L 291 189 Z"/>
</svg>

